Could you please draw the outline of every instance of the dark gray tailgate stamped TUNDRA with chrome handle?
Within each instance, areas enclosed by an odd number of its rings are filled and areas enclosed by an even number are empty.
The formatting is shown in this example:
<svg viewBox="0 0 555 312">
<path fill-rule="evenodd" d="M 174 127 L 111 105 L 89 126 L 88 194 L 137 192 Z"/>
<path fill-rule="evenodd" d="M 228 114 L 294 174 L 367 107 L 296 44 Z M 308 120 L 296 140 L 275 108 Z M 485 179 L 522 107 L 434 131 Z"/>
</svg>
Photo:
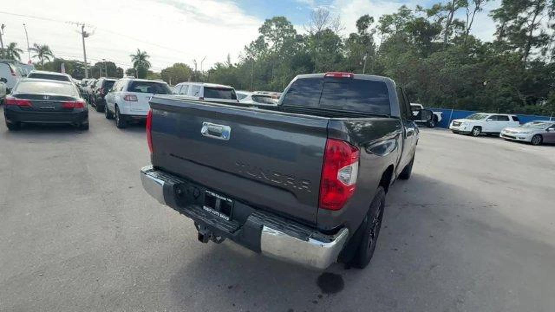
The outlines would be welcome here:
<svg viewBox="0 0 555 312">
<path fill-rule="evenodd" d="M 154 97 L 153 166 L 316 224 L 328 119 Z"/>
</svg>

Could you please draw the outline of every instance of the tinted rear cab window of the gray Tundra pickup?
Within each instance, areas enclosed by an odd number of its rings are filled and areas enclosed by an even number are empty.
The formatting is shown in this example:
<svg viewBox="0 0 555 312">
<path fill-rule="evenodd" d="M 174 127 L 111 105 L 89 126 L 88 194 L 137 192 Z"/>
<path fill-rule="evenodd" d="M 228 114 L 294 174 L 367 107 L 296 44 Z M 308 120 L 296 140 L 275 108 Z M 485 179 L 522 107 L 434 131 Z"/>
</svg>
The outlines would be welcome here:
<svg viewBox="0 0 555 312">
<path fill-rule="evenodd" d="M 391 114 L 387 85 L 370 79 L 300 78 L 291 85 L 281 104 Z"/>
</svg>

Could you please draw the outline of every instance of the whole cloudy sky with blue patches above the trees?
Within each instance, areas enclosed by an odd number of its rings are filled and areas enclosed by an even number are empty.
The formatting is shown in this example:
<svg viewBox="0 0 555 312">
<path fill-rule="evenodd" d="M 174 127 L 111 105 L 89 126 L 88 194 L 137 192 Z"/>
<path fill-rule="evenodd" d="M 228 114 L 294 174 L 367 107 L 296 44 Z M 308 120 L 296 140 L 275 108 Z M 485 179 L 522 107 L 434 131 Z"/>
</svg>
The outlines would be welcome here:
<svg viewBox="0 0 555 312">
<path fill-rule="evenodd" d="M 363 14 L 393 13 L 405 4 L 430 6 L 431 0 L 2 0 L 0 23 L 5 24 L 4 46 L 16 42 L 23 51 L 27 43 L 47 44 L 54 56 L 83 59 L 80 26 L 92 35 L 86 39 L 87 61 L 113 61 L 127 69 L 129 54 L 137 49 L 150 55 L 152 70 L 161 71 L 174 63 L 189 64 L 206 71 L 216 62 L 239 60 L 246 44 L 258 37 L 266 18 L 285 16 L 302 32 L 310 13 L 319 7 L 340 17 L 347 36 Z M 500 0 L 489 2 L 475 21 L 473 33 L 490 40 L 495 24 L 487 13 Z M 462 14 L 462 13 L 461 13 Z M 28 59 L 27 53 L 22 61 Z M 204 59 L 204 61 L 202 61 Z M 202 68 L 201 68 L 202 65 Z"/>
</svg>

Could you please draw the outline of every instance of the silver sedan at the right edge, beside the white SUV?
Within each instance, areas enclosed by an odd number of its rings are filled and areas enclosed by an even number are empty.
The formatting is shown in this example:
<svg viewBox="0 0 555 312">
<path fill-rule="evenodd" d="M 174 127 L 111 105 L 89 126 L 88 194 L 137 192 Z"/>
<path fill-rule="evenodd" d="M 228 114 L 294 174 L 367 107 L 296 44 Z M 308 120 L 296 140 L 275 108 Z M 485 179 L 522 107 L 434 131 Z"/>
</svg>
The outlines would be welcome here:
<svg viewBox="0 0 555 312">
<path fill-rule="evenodd" d="M 555 122 L 538 120 L 519 127 L 505 128 L 499 137 L 506 140 L 529 142 L 534 145 L 555 143 Z"/>
</svg>

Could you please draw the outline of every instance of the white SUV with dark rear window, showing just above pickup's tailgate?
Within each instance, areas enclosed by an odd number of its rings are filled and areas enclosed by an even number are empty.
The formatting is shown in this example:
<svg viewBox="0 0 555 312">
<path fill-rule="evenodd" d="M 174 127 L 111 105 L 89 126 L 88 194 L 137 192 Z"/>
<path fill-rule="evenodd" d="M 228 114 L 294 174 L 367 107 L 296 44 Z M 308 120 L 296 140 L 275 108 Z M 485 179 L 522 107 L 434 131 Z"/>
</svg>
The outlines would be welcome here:
<svg viewBox="0 0 555 312">
<path fill-rule="evenodd" d="M 235 88 L 230 85 L 213 83 L 184 82 L 175 85 L 171 94 L 185 99 L 205 102 L 239 103 Z"/>
</svg>

